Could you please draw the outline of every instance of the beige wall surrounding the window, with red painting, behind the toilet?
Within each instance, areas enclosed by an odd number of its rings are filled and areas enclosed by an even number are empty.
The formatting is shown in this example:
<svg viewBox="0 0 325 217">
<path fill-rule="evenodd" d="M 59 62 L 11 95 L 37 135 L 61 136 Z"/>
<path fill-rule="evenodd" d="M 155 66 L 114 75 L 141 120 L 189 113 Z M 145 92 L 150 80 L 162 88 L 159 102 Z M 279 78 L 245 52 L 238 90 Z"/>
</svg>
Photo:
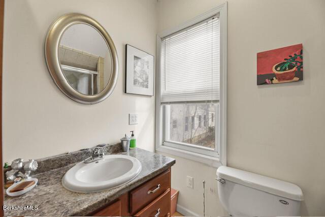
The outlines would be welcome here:
<svg viewBox="0 0 325 217">
<path fill-rule="evenodd" d="M 158 31 L 172 28 L 223 3 L 219 0 L 158 2 Z M 325 215 L 325 1 L 228 1 L 228 165 L 298 184 L 303 215 Z M 304 81 L 256 86 L 256 53 L 303 43 Z M 215 169 L 176 158 L 172 185 L 179 204 L 223 215 Z M 194 189 L 186 188 L 186 175 Z M 213 193 L 210 192 L 210 187 Z"/>
</svg>

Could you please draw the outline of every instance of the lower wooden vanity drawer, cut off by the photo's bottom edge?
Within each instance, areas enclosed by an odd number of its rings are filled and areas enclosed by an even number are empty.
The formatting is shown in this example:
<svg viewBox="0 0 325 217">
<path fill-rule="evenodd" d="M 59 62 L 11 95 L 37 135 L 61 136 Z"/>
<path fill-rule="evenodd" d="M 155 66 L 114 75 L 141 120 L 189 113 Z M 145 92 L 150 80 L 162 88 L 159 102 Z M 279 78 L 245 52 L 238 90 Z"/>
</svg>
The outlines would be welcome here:
<svg viewBox="0 0 325 217">
<path fill-rule="evenodd" d="M 163 195 L 138 212 L 135 216 L 168 216 L 171 211 L 171 191 L 168 189 Z"/>
</svg>

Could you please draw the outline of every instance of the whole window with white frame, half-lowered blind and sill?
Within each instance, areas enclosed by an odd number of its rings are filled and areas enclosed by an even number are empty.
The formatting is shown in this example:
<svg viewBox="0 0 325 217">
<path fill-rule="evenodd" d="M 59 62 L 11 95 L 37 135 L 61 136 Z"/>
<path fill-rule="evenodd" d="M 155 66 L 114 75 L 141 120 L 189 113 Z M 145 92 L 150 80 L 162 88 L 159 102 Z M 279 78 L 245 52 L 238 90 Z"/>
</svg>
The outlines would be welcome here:
<svg viewBox="0 0 325 217">
<path fill-rule="evenodd" d="M 156 150 L 224 164 L 226 3 L 177 29 L 157 37 Z"/>
</svg>

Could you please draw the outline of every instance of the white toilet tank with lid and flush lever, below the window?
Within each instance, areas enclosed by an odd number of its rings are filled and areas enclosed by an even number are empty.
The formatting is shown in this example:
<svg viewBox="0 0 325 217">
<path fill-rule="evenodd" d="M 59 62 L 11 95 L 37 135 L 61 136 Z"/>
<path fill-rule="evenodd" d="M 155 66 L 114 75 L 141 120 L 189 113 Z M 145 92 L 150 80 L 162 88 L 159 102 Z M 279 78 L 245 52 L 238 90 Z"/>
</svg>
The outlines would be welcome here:
<svg viewBox="0 0 325 217">
<path fill-rule="evenodd" d="M 300 215 L 304 199 L 296 184 L 225 166 L 217 180 L 219 200 L 232 215 Z"/>
</svg>

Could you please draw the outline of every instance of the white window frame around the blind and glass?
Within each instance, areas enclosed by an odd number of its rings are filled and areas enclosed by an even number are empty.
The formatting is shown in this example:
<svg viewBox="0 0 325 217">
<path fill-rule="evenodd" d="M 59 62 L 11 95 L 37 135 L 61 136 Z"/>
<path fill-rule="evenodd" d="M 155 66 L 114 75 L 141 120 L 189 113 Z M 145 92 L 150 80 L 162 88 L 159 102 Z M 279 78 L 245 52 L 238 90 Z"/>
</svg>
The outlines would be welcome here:
<svg viewBox="0 0 325 217">
<path fill-rule="evenodd" d="M 226 165 L 226 117 L 227 117 L 227 2 L 217 6 L 216 8 L 195 17 L 188 22 L 185 22 L 173 29 L 169 29 L 167 31 L 161 32 L 156 37 L 156 114 L 155 114 L 155 150 L 161 151 L 165 153 L 170 153 L 175 156 L 179 156 L 182 158 L 198 161 L 212 167 L 219 167 L 221 165 Z M 177 148 L 177 144 L 173 145 L 164 145 L 164 134 L 168 132 L 164 132 L 164 106 L 161 105 L 161 92 L 160 92 L 160 52 L 161 52 L 161 39 L 169 36 L 173 33 L 178 32 L 184 28 L 192 26 L 196 23 L 199 23 L 203 20 L 206 20 L 212 16 L 219 14 L 220 20 L 220 100 L 218 104 L 219 113 L 217 113 L 214 117 L 216 123 L 216 137 L 218 140 L 216 143 L 218 144 L 218 152 L 215 152 L 215 156 L 209 156 L 205 154 L 204 147 L 202 147 L 203 151 L 193 151 L 190 147 L 189 150 L 184 150 Z M 188 102 L 190 103 L 190 102 Z M 166 117 L 165 117 L 166 118 Z M 189 119 L 189 118 L 188 118 Z M 218 122 L 217 122 L 218 121 Z M 217 124 L 218 123 L 218 124 Z M 206 123 L 207 125 L 209 123 Z M 190 125 L 190 121 L 188 123 Z M 189 128 L 190 126 L 188 126 Z M 189 128 L 190 130 L 190 128 Z M 165 142 L 166 143 L 166 142 Z M 188 144 L 187 144 L 188 145 Z M 196 148 L 198 149 L 198 148 Z"/>
</svg>

